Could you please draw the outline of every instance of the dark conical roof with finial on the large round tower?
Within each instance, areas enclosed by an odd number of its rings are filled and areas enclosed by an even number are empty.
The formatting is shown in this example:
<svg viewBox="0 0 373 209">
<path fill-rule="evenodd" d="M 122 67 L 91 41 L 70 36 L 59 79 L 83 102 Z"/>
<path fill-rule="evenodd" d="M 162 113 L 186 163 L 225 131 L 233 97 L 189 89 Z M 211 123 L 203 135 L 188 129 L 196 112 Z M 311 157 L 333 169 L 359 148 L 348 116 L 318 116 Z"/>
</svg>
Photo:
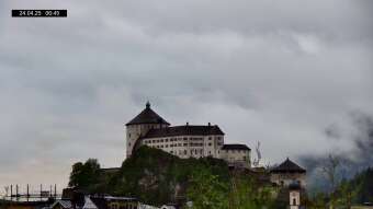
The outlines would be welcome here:
<svg viewBox="0 0 373 209">
<path fill-rule="evenodd" d="M 166 124 L 170 125 L 162 117 L 160 117 L 156 112 L 150 108 L 150 103 L 146 103 L 146 107 L 142 113 L 139 113 L 135 118 L 126 124 L 128 125 L 139 125 L 139 124 Z"/>
</svg>

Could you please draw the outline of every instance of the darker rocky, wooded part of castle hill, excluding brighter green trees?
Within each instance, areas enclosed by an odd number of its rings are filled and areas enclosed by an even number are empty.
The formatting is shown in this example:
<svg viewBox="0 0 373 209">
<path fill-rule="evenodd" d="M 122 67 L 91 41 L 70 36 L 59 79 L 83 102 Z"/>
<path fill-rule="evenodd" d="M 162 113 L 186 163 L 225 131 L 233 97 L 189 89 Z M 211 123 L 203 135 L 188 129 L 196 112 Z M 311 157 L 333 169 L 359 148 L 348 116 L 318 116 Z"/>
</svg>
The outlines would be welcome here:
<svg viewBox="0 0 373 209">
<path fill-rule="evenodd" d="M 102 171 L 93 159 L 74 164 L 69 186 L 161 205 L 185 198 L 187 186 L 195 171 L 208 172 L 219 182 L 229 182 L 228 166 L 223 160 L 180 159 L 159 149 L 142 147 L 117 172 Z"/>
</svg>

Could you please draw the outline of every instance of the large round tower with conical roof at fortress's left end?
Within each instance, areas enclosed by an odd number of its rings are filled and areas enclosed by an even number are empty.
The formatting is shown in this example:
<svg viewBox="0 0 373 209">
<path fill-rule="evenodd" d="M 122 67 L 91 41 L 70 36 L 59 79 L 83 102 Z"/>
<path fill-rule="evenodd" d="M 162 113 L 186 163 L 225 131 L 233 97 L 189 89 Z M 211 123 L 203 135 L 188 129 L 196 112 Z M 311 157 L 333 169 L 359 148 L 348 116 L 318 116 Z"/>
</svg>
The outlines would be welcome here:
<svg viewBox="0 0 373 209">
<path fill-rule="evenodd" d="M 126 156 L 131 156 L 136 141 L 144 137 L 148 130 L 168 126 L 170 124 L 150 108 L 148 101 L 145 109 L 126 124 Z"/>
</svg>

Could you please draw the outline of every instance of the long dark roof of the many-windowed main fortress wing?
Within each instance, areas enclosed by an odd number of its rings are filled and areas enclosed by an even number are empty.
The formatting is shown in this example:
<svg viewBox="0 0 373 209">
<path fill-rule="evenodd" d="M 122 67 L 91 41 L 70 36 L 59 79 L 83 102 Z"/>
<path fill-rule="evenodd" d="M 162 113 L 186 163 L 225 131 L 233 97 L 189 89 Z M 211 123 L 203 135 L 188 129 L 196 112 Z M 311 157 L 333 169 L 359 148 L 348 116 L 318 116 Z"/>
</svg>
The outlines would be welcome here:
<svg viewBox="0 0 373 209">
<path fill-rule="evenodd" d="M 224 135 L 217 125 L 214 126 L 172 126 L 160 129 L 150 129 L 143 139 L 158 137 L 174 137 L 174 136 L 208 136 Z"/>
</svg>

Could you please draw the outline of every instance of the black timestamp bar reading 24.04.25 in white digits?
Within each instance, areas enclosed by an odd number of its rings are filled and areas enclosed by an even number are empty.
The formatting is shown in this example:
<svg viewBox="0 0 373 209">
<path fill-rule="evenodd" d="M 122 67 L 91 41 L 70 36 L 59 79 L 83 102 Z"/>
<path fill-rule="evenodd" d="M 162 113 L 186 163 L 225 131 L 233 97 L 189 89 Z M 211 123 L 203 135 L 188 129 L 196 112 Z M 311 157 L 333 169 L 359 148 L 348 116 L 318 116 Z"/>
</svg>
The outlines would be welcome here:
<svg viewBox="0 0 373 209">
<path fill-rule="evenodd" d="M 12 18 L 67 18 L 67 10 L 12 10 Z"/>
</svg>

